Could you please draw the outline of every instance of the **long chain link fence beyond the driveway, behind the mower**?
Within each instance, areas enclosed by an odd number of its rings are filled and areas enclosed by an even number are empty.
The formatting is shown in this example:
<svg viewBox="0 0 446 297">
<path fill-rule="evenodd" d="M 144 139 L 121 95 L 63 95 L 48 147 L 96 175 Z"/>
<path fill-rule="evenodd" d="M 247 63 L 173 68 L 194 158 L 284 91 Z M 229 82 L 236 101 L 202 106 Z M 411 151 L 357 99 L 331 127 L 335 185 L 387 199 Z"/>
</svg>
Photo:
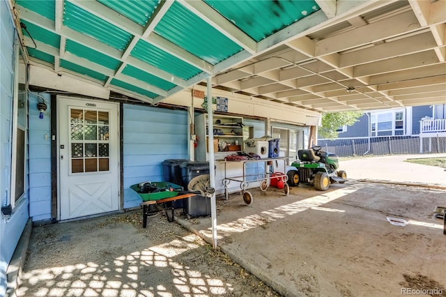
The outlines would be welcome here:
<svg viewBox="0 0 446 297">
<path fill-rule="evenodd" d="M 382 136 L 351 139 L 319 139 L 324 151 L 339 157 L 355 155 L 392 155 L 446 153 L 446 137 Z"/>
</svg>

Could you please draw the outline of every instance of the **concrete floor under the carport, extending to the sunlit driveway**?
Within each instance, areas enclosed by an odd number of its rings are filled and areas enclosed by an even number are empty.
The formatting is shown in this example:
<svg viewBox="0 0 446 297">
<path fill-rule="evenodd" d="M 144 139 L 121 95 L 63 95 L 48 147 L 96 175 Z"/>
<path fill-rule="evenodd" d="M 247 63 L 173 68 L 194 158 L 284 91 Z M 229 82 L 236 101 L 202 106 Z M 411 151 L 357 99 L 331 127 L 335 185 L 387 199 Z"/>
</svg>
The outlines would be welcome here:
<svg viewBox="0 0 446 297">
<path fill-rule="evenodd" d="M 240 194 L 217 199 L 217 244 L 284 296 L 401 296 L 420 288 L 446 296 L 446 236 L 433 216 L 446 206 L 446 172 L 407 158 L 344 161 L 355 179 L 327 192 L 252 190 L 249 206 Z M 178 222 L 213 242 L 210 218 Z"/>
</svg>

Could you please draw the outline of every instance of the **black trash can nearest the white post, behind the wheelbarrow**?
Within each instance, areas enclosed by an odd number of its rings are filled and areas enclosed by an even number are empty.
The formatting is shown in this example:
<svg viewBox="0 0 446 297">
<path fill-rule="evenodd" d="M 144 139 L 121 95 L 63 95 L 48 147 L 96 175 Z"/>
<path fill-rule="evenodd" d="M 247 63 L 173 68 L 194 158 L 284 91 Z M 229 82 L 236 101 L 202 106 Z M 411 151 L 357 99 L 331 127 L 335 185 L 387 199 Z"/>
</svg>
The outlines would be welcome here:
<svg viewBox="0 0 446 297">
<path fill-rule="evenodd" d="M 209 162 L 187 161 L 180 164 L 180 172 L 185 190 L 192 178 L 202 174 L 209 174 Z M 210 199 L 201 195 L 196 195 L 183 199 L 183 211 L 189 218 L 203 217 L 210 215 Z"/>
</svg>

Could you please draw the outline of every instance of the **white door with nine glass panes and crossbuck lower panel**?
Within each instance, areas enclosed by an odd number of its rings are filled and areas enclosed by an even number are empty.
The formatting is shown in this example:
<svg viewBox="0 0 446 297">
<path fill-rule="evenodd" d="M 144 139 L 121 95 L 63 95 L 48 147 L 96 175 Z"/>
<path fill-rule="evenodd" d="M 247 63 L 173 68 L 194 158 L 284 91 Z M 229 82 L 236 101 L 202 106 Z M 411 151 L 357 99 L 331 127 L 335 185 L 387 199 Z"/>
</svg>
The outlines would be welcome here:
<svg viewBox="0 0 446 297">
<path fill-rule="evenodd" d="M 120 207 L 118 104 L 58 96 L 59 219 Z"/>
</svg>

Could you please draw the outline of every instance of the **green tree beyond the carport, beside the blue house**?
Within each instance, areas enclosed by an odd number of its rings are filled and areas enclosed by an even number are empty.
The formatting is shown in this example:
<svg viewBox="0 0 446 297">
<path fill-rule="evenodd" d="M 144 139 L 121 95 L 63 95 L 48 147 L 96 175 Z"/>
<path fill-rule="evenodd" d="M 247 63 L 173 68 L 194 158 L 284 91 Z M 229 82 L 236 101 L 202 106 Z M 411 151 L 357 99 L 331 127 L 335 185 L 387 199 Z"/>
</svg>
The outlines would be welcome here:
<svg viewBox="0 0 446 297">
<path fill-rule="evenodd" d="M 361 111 L 355 112 L 328 112 L 322 114 L 321 126 L 318 128 L 318 135 L 321 138 L 335 139 L 339 128 L 344 125 L 353 125 L 360 116 Z"/>
</svg>

